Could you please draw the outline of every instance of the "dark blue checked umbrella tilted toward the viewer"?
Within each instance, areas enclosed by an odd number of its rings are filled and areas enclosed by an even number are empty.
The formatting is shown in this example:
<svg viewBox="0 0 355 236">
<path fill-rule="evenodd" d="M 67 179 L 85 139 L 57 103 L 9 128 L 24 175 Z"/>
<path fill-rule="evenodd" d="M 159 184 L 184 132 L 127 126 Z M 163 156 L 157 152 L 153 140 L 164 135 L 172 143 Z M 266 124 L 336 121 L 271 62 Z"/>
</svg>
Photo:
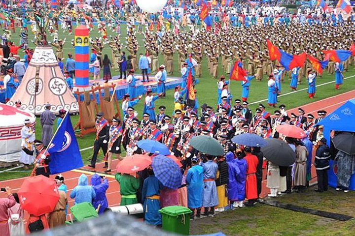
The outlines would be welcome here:
<svg viewBox="0 0 355 236">
<path fill-rule="evenodd" d="M 182 174 L 178 165 L 169 157 L 157 155 L 153 157 L 151 167 L 155 177 L 168 188 L 177 189 L 181 186 Z"/>
</svg>

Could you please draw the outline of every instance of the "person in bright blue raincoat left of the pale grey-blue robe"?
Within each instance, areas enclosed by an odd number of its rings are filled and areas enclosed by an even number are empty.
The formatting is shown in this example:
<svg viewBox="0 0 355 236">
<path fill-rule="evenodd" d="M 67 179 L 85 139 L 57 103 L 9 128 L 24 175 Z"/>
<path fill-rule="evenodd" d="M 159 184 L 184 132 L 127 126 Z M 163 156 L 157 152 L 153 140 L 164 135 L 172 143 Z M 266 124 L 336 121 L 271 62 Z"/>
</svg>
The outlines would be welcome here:
<svg viewBox="0 0 355 236">
<path fill-rule="evenodd" d="M 187 207 L 192 210 L 193 217 L 201 217 L 202 191 L 203 191 L 203 168 L 198 165 L 198 157 L 191 158 L 192 167 L 187 171 Z"/>
</svg>

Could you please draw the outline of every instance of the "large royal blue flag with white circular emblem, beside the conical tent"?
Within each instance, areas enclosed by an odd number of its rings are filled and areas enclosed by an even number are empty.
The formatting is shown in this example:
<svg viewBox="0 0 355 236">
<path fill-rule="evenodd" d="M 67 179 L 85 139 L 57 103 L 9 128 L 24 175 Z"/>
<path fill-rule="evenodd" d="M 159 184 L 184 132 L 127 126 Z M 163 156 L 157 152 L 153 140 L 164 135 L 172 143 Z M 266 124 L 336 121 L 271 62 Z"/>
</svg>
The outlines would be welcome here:
<svg viewBox="0 0 355 236">
<path fill-rule="evenodd" d="M 48 148 L 51 174 L 71 171 L 83 166 L 79 146 L 71 125 L 69 113 L 63 118 Z"/>
</svg>

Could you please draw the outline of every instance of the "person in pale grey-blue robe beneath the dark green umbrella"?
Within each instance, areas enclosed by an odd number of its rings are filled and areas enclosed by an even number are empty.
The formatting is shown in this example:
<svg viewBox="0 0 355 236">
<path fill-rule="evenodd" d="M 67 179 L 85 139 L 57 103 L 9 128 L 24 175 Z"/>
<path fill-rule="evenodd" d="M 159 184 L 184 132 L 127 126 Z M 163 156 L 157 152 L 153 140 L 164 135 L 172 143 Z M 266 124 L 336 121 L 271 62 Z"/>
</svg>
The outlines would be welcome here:
<svg viewBox="0 0 355 236">
<path fill-rule="evenodd" d="M 218 165 L 213 162 L 214 156 L 206 154 L 207 162 L 200 162 L 204 170 L 204 184 L 203 184 L 203 203 L 205 208 L 203 215 L 214 215 L 214 207 L 218 205 L 217 188 L 215 184 L 215 177 L 218 171 Z"/>
</svg>

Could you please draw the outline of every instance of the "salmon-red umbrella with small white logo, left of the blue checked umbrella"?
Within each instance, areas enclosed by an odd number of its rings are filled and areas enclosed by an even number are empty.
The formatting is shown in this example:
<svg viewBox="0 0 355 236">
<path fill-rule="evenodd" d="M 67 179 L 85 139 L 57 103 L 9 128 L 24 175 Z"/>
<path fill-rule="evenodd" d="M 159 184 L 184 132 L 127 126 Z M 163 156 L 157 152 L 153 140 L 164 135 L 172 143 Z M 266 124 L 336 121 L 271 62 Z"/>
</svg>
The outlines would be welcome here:
<svg viewBox="0 0 355 236">
<path fill-rule="evenodd" d="M 142 171 L 152 163 L 152 160 L 147 155 L 135 154 L 127 156 L 117 164 L 116 170 L 118 173 L 132 174 Z"/>
</svg>

